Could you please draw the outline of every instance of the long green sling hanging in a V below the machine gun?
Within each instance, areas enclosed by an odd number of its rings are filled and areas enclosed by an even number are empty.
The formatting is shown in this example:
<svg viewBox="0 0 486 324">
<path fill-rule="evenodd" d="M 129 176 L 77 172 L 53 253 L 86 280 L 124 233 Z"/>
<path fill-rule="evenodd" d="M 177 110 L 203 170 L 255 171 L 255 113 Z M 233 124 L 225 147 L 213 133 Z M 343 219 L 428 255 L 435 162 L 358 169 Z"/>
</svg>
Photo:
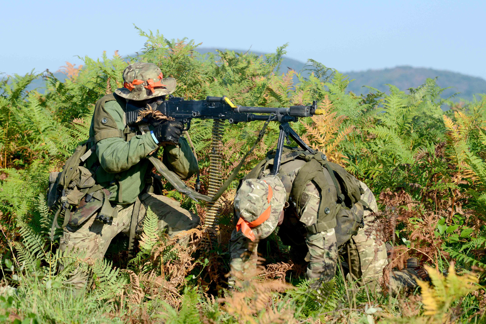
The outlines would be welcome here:
<svg viewBox="0 0 486 324">
<path fill-rule="evenodd" d="M 166 180 L 169 181 L 170 184 L 172 184 L 172 186 L 177 191 L 187 195 L 188 197 L 190 197 L 191 199 L 193 199 L 195 201 L 197 201 L 197 199 L 208 201 L 208 202 L 216 201 L 216 200 L 218 200 L 219 197 L 221 197 L 223 192 L 226 191 L 226 189 L 229 187 L 231 182 L 233 182 L 233 180 L 236 178 L 239 170 L 241 169 L 241 167 L 245 163 L 248 155 L 250 155 L 253 152 L 253 150 L 255 149 L 257 144 L 263 138 L 263 135 L 265 134 L 265 130 L 267 129 L 268 123 L 269 123 L 269 120 L 265 121 L 265 124 L 263 125 L 262 129 L 260 130 L 260 133 L 258 134 L 257 140 L 255 141 L 255 144 L 253 144 L 253 147 L 245 154 L 245 156 L 243 156 L 240 163 L 236 166 L 236 168 L 234 168 L 234 170 L 231 173 L 231 175 L 229 176 L 229 178 L 226 179 L 226 181 L 223 183 L 223 185 L 221 186 L 219 191 L 213 197 L 210 197 L 208 195 L 196 192 L 194 189 L 192 189 L 191 187 L 186 185 L 184 183 L 184 181 L 182 181 L 181 178 L 179 178 L 179 176 L 177 174 L 175 174 L 174 172 L 169 170 L 167 168 L 167 166 L 158 158 L 155 158 L 154 156 L 150 156 L 148 158 L 148 160 L 153 164 L 153 166 L 155 167 L 155 170 L 157 170 L 158 173 L 163 175 L 164 178 L 166 178 Z"/>
</svg>

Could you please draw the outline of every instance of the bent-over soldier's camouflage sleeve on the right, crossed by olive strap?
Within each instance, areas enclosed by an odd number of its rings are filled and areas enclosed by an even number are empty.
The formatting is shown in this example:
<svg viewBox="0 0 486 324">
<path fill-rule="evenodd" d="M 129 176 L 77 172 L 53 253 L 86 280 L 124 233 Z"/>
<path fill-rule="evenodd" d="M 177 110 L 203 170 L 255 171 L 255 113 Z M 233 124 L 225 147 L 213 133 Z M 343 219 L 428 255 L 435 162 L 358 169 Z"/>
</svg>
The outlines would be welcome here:
<svg viewBox="0 0 486 324">
<path fill-rule="evenodd" d="M 309 183 L 302 193 L 301 204 L 304 208 L 301 211 L 300 221 L 305 225 L 312 225 L 317 222 L 319 211 L 320 193 L 313 183 Z M 336 272 L 338 258 L 336 232 L 334 228 L 315 234 L 307 234 L 306 244 L 309 250 L 306 261 L 306 275 L 311 281 L 330 281 Z"/>
</svg>

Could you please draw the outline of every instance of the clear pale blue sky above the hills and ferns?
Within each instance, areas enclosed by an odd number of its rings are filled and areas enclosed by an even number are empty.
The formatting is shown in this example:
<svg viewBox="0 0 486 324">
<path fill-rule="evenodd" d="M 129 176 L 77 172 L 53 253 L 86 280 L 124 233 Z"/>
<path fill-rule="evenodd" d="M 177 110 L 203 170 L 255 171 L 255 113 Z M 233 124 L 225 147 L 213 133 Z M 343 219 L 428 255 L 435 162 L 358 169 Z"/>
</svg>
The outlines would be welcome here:
<svg viewBox="0 0 486 324">
<path fill-rule="evenodd" d="M 312 58 L 340 71 L 397 65 L 486 79 L 486 1 L 4 1 L 0 72 L 59 69 L 76 56 L 132 54 L 133 24 L 202 47 Z"/>
</svg>

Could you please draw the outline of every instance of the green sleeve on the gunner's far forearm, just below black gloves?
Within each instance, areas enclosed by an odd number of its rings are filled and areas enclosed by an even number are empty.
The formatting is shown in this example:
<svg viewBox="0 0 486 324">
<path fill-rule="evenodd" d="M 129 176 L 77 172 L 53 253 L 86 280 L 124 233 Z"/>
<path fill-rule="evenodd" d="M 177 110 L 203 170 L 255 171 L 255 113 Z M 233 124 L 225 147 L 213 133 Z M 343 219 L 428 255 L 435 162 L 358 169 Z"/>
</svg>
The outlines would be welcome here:
<svg viewBox="0 0 486 324">
<path fill-rule="evenodd" d="M 192 177 L 199 168 L 189 143 L 182 136 L 179 138 L 179 145 L 167 145 L 164 147 L 162 161 L 182 180 Z"/>
</svg>

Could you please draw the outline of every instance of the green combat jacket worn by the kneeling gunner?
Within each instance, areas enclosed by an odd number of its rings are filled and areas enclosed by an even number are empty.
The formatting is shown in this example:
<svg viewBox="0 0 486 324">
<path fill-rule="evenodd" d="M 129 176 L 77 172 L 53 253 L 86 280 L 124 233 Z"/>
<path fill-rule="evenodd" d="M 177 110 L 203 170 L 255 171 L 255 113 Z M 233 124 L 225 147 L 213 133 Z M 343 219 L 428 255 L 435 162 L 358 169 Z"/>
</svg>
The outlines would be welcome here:
<svg viewBox="0 0 486 324">
<path fill-rule="evenodd" d="M 96 170 L 96 182 L 107 184 L 106 189 L 111 192 L 109 200 L 120 205 L 132 204 L 142 192 L 145 178 L 152 170 L 146 157 L 156 154 L 159 148 L 150 133 L 153 127 L 126 126 L 125 107 L 125 99 L 116 94 L 98 100 L 90 128 L 96 154 L 86 163 Z M 197 161 L 183 137 L 179 145 L 164 147 L 163 161 L 181 179 L 191 177 L 197 170 Z"/>
</svg>

